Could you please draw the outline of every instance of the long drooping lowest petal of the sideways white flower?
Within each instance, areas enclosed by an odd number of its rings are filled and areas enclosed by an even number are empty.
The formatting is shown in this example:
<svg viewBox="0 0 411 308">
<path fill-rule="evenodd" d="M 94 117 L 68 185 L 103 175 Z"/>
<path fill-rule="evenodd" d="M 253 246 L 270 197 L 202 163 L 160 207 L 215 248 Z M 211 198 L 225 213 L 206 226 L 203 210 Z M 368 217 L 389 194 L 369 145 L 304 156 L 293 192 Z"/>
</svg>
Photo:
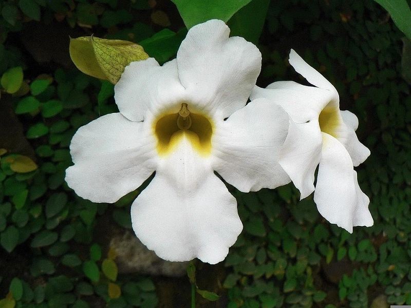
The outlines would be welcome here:
<svg viewBox="0 0 411 308">
<path fill-rule="evenodd" d="M 323 150 L 314 192 L 314 202 L 320 214 L 350 233 L 353 226 L 372 225 L 365 206 L 367 200 L 359 194 L 361 190 L 357 187 L 349 153 L 337 139 L 322 134 Z"/>
</svg>

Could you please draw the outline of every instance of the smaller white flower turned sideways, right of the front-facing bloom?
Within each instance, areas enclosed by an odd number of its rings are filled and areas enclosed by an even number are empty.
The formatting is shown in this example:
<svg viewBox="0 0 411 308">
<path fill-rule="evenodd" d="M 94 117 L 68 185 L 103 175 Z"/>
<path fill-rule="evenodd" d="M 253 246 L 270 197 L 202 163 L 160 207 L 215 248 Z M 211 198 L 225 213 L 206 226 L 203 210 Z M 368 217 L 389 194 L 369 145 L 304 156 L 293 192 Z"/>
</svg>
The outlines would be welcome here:
<svg viewBox="0 0 411 308">
<path fill-rule="evenodd" d="M 289 62 L 315 87 L 275 82 L 266 89 L 255 87 L 250 96 L 252 100 L 270 99 L 290 116 L 289 134 L 278 162 L 302 199 L 314 191 L 314 172 L 320 164 L 314 192 L 320 214 L 350 233 L 353 226 L 371 226 L 369 199 L 353 169 L 370 154 L 355 133 L 358 119 L 350 111 L 340 110 L 337 90 L 294 50 Z"/>
</svg>

